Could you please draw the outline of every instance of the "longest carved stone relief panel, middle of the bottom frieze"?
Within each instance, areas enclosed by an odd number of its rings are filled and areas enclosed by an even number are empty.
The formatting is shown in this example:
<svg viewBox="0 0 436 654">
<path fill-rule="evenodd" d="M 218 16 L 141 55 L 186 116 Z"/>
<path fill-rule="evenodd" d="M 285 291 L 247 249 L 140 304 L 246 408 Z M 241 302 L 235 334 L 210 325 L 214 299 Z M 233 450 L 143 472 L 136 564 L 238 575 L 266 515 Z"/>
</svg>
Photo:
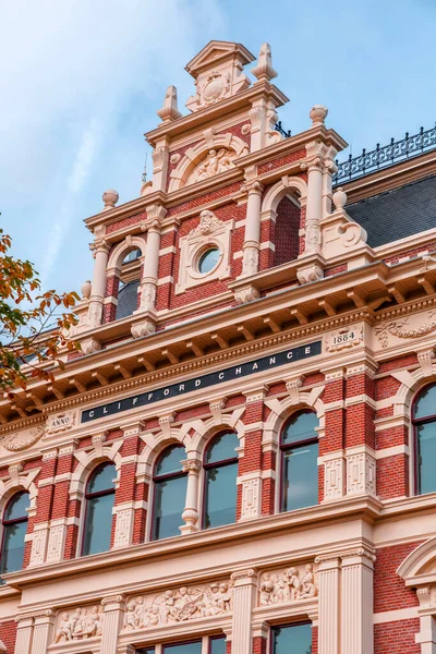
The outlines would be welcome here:
<svg viewBox="0 0 436 654">
<path fill-rule="evenodd" d="M 217 581 L 203 586 L 168 589 L 155 595 L 137 595 L 128 600 L 123 628 L 136 631 L 225 615 L 232 610 L 232 593 L 230 581 Z"/>
</svg>

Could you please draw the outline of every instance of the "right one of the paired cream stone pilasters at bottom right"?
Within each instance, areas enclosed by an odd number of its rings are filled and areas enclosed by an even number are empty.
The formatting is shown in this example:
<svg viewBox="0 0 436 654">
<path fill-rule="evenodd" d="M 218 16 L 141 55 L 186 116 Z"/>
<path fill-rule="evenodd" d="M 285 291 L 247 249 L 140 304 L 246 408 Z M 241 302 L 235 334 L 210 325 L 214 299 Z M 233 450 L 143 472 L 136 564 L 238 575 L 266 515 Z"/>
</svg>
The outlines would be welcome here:
<svg viewBox="0 0 436 654">
<path fill-rule="evenodd" d="M 364 547 L 341 553 L 342 652 L 374 654 L 373 571 L 375 556 Z"/>
</svg>

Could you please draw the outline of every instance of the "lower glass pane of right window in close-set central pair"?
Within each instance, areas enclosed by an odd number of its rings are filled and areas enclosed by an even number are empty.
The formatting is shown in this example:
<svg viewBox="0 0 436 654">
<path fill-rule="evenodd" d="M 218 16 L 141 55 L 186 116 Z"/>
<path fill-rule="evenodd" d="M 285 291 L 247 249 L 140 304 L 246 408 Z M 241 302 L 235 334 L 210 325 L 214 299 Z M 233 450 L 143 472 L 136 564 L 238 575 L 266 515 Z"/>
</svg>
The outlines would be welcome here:
<svg viewBox="0 0 436 654">
<path fill-rule="evenodd" d="M 206 529 L 232 524 L 237 520 L 238 463 L 206 470 Z"/>
</svg>

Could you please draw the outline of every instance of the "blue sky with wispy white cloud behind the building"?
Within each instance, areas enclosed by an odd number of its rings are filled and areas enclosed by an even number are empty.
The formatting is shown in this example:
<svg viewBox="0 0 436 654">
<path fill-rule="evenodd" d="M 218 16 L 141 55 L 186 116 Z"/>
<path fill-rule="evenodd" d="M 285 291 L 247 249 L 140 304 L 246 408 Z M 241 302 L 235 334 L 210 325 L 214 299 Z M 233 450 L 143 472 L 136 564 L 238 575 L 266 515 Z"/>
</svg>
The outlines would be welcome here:
<svg viewBox="0 0 436 654">
<path fill-rule="evenodd" d="M 90 278 L 82 220 L 107 187 L 120 202 L 138 195 L 143 133 L 159 123 L 169 84 L 184 110 L 184 65 L 213 38 L 256 56 L 271 45 L 275 83 L 291 99 L 280 119 L 294 134 L 314 104 L 354 154 L 436 120 L 435 0 L 0 0 L 0 222 L 59 291 Z"/>
</svg>

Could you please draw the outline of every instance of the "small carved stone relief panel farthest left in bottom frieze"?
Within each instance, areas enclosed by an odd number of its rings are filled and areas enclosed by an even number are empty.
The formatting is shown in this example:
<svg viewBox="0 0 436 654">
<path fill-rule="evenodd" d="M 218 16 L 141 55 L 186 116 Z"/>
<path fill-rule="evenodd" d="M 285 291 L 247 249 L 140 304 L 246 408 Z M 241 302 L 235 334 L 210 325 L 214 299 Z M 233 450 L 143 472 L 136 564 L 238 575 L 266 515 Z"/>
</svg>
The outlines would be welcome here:
<svg viewBox="0 0 436 654">
<path fill-rule="evenodd" d="M 73 610 L 62 610 L 57 617 L 55 629 L 56 644 L 86 640 L 101 635 L 102 607 L 86 606 Z"/>
</svg>

